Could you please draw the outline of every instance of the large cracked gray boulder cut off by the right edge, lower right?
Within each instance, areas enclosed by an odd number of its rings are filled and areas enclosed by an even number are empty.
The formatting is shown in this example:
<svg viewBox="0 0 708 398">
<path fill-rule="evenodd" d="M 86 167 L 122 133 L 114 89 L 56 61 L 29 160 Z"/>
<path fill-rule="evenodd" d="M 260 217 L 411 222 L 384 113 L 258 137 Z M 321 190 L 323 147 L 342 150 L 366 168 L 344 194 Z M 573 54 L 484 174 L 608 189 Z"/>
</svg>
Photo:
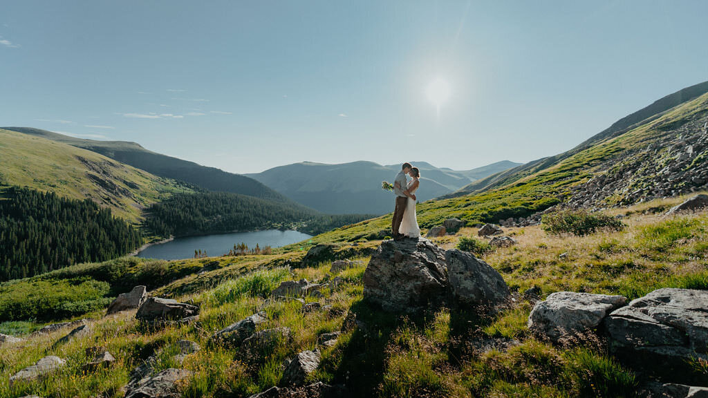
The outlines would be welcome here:
<svg viewBox="0 0 708 398">
<path fill-rule="evenodd" d="M 650 370 L 666 380 L 705 382 L 686 359 L 708 360 L 707 308 L 707 290 L 654 290 L 605 319 L 610 352 L 640 367 L 661 363 Z"/>
</svg>

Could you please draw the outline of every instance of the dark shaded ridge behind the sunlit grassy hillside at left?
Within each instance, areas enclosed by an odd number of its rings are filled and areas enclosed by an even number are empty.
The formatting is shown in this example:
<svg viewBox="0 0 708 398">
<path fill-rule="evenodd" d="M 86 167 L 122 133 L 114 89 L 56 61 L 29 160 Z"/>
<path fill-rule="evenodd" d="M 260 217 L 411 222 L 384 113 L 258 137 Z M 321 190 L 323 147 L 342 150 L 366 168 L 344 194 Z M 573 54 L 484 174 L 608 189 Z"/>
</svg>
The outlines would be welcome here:
<svg viewBox="0 0 708 398">
<path fill-rule="evenodd" d="M 158 154 L 144 149 L 135 142 L 84 140 L 30 127 L 4 128 L 6 130 L 22 132 L 26 135 L 34 135 L 52 141 L 63 142 L 74 147 L 88 149 L 89 151 L 102 154 L 110 159 L 120 161 L 123 164 L 130 164 L 130 166 L 147 171 L 156 176 L 184 181 L 208 191 L 240 193 L 241 195 L 278 200 L 281 202 L 289 201 L 280 193 L 253 180 L 253 178 L 227 173 L 215 167 L 201 166 L 193 161 L 185 161 L 177 159 L 176 157 Z"/>
</svg>

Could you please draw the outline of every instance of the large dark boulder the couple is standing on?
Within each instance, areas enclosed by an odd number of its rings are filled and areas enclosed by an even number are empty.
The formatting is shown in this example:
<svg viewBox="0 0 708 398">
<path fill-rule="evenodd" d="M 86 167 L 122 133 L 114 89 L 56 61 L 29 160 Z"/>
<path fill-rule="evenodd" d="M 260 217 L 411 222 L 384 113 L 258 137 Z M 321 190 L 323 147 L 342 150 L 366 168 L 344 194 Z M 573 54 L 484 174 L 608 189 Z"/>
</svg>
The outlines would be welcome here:
<svg viewBox="0 0 708 398">
<path fill-rule="evenodd" d="M 445 301 L 445 251 L 428 239 L 387 240 L 364 272 L 364 298 L 390 312 L 417 312 Z"/>
</svg>

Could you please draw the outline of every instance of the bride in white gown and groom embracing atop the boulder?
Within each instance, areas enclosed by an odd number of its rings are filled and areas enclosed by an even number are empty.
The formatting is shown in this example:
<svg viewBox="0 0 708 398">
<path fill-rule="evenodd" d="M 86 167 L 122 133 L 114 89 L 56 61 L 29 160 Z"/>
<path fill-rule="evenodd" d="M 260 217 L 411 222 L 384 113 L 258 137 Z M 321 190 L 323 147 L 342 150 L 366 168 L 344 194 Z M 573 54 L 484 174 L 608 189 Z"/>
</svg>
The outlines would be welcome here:
<svg viewBox="0 0 708 398">
<path fill-rule="evenodd" d="M 411 181 L 406 182 L 406 174 L 411 176 Z M 396 210 L 392 222 L 393 237 L 396 240 L 418 238 L 421 229 L 418 228 L 416 217 L 416 191 L 420 185 L 421 171 L 410 163 L 404 163 L 403 169 L 396 175 L 394 181 L 394 194 L 396 194 Z"/>
</svg>

